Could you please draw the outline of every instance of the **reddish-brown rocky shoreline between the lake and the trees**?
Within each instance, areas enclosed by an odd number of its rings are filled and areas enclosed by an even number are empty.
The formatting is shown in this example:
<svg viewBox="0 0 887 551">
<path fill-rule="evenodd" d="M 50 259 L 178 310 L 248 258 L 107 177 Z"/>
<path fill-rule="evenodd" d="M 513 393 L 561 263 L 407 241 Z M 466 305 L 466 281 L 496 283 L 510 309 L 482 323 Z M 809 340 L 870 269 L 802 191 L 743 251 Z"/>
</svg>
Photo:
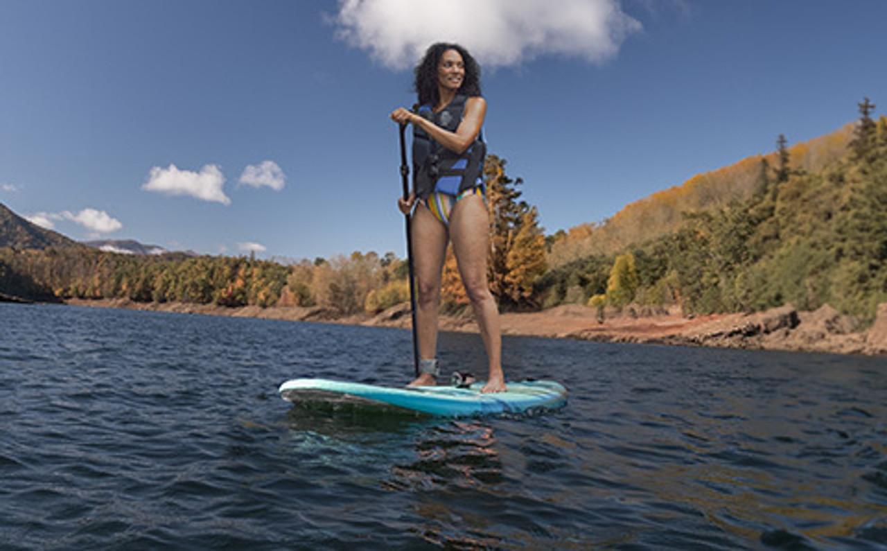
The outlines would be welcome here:
<svg viewBox="0 0 887 551">
<path fill-rule="evenodd" d="M 240 318 L 313 321 L 372 327 L 410 327 L 408 304 L 381 314 L 342 318 L 322 308 L 245 306 L 226 308 L 210 304 L 135 303 L 127 299 L 82 300 L 68 304 L 145 311 L 233 316 Z M 710 346 L 746 350 L 792 350 L 837 354 L 887 354 L 887 303 L 878 307 L 875 324 L 862 332 L 831 306 L 817 311 L 797 311 L 790 305 L 752 314 L 716 314 L 687 317 L 674 311 L 645 312 L 632 309 L 609 313 L 600 320 L 596 311 L 578 304 L 546 311 L 501 316 L 503 335 L 566 338 L 596 342 L 639 342 L 669 345 Z M 442 316 L 443 331 L 478 331 L 474 319 Z"/>
</svg>

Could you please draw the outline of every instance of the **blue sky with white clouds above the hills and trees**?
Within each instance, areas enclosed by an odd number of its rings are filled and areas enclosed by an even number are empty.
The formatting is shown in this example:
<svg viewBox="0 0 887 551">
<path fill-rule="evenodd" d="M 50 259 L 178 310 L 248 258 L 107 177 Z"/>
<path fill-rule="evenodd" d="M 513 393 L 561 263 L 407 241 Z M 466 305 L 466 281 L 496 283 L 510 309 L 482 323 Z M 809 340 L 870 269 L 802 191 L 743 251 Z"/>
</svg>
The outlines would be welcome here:
<svg viewBox="0 0 887 551">
<path fill-rule="evenodd" d="M 465 6 L 465 7 L 463 7 Z M 0 0 L 0 202 L 76 240 L 404 256 L 396 126 L 437 39 L 547 233 L 887 112 L 882 0 Z"/>
</svg>

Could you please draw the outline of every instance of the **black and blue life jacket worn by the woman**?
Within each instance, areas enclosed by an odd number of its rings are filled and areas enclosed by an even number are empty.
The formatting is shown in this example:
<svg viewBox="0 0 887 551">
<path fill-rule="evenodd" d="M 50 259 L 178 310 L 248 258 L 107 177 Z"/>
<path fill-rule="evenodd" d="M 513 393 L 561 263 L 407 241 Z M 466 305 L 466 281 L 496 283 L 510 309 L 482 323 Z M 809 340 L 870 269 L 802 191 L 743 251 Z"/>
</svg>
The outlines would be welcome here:
<svg viewBox="0 0 887 551">
<path fill-rule="evenodd" d="M 419 107 L 420 116 L 444 130 L 455 132 L 462 122 L 467 97 L 457 94 L 448 106 L 435 113 L 431 106 Z M 464 153 L 455 153 L 438 144 L 418 125 L 412 126 L 412 189 L 419 199 L 435 191 L 457 195 L 483 185 L 483 160 L 487 146 L 478 134 Z"/>
</svg>

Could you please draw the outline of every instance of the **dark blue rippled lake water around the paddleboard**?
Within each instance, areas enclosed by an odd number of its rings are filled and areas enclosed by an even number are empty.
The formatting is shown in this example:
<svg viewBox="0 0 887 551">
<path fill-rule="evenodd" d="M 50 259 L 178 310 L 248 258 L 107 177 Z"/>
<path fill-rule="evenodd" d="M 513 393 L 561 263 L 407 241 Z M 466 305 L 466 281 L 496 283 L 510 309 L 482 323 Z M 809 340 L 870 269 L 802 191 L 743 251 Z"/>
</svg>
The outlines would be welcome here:
<svg viewBox="0 0 887 551">
<path fill-rule="evenodd" d="M 0 304 L 0 547 L 887 548 L 884 358 L 504 345 L 569 404 L 310 411 L 279 384 L 404 384 L 409 332 Z"/>
</svg>

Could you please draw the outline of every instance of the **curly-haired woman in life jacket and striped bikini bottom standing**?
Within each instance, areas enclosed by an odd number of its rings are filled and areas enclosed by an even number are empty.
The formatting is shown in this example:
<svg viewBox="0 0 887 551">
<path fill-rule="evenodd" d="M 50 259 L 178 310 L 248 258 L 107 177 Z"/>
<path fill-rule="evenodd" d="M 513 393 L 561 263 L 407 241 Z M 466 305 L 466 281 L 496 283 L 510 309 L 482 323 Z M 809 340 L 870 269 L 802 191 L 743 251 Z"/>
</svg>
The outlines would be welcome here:
<svg viewBox="0 0 887 551">
<path fill-rule="evenodd" d="M 487 104 L 481 97 L 480 67 L 458 44 L 436 43 L 428 48 L 415 74 L 418 113 L 399 107 L 391 114 L 394 122 L 413 126 L 413 192 L 409 199 L 398 201 L 404 214 L 412 211 L 412 257 L 419 295 L 420 374 L 410 385 L 436 384 L 441 276 L 447 242 L 452 241 L 490 364 L 482 391 L 503 392 L 507 389 L 498 307 L 487 283 L 486 147 L 478 139 Z"/>
</svg>

